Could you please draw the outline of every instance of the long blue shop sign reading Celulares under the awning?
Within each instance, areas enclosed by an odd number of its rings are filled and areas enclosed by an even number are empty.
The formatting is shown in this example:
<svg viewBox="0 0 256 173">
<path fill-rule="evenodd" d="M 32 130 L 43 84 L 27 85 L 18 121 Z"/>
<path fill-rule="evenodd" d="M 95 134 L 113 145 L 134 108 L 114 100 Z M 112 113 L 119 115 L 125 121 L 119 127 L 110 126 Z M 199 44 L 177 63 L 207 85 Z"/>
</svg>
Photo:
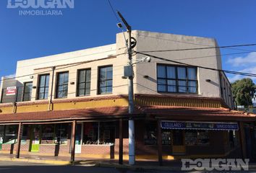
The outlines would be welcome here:
<svg viewBox="0 0 256 173">
<path fill-rule="evenodd" d="M 165 129 L 239 130 L 237 123 L 161 121 Z"/>
</svg>

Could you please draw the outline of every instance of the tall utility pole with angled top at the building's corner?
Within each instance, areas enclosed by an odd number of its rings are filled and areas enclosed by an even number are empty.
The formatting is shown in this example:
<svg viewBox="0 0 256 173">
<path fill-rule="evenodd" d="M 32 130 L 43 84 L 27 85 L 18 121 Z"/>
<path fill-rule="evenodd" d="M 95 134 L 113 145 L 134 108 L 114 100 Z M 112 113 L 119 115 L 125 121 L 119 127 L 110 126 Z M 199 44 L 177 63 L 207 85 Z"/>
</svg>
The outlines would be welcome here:
<svg viewBox="0 0 256 173">
<path fill-rule="evenodd" d="M 134 103 L 133 103 L 133 66 L 132 66 L 132 27 L 127 23 L 124 17 L 120 12 L 117 12 L 121 21 L 127 27 L 128 39 L 128 59 L 129 59 L 129 68 L 131 75 L 129 79 L 129 89 L 128 89 L 128 107 L 129 107 L 129 164 L 135 164 L 135 121 L 132 119 L 132 114 L 134 112 Z"/>
</svg>

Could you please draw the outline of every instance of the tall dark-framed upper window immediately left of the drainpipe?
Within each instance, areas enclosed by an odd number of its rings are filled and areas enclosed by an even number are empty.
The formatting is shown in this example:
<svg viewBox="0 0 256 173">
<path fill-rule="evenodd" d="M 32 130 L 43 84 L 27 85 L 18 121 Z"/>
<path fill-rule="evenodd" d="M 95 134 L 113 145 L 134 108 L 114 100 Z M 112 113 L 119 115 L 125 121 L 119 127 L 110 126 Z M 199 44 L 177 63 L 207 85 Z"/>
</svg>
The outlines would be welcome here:
<svg viewBox="0 0 256 173">
<path fill-rule="evenodd" d="M 39 76 L 38 99 L 48 99 L 49 74 Z"/>
</svg>

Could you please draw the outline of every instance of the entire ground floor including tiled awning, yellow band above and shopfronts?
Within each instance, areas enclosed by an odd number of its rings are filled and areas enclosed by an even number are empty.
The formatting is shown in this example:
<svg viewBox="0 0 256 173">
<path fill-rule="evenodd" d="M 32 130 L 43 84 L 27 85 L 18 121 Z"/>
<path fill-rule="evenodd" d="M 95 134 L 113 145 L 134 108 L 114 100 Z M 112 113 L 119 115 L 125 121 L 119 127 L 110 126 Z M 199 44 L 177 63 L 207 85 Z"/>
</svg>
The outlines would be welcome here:
<svg viewBox="0 0 256 173">
<path fill-rule="evenodd" d="M 137 160 L 256 157 L 256 115 L 224 108 L 221 98 L 134 98 L 132 114 L 127 95 L 3 104 L 0 154 L 122 163 L 129 159 L 129 137 L 135 137 L 130 151 L 135 148 Z M 129 133 L 129 120 L 135 122 L 134 133 Z"/>
</svg>

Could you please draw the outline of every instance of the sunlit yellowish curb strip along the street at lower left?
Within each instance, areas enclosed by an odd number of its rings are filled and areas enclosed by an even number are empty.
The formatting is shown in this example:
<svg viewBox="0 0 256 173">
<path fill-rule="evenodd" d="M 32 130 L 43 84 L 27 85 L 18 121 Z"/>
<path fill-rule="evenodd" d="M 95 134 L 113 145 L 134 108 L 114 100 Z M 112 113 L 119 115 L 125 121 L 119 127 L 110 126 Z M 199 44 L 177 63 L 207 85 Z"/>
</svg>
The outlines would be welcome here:
<svg viewBox="0 0 256 173">
<path fill-rule="evenodd" d="M 43 159 L 17 159 L 1 157 L 0 161 L 17 161 L 17 162 L 29 162 L 36 164 L 57 164 L 57 165 L 69 165 L 70 161 L 56 161 L 56 160 L 43 160 Z"/>
</svg>

